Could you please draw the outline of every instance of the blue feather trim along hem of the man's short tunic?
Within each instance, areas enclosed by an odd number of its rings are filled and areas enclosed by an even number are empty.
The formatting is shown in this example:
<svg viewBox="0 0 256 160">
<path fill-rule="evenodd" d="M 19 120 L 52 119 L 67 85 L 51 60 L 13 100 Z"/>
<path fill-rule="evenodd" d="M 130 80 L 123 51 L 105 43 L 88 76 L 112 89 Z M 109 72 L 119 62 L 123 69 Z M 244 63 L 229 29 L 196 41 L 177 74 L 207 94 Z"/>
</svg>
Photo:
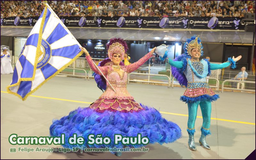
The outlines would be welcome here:
<svg viewBox="0 0 256 160">
<path fill-rule="evenodd" d="M 215 101 L 215 100 L 217 100 L 219 98 L 220 98 L 220 96 L 218 94 L 215 94 L 213 96 L 205 94 L 205 95 L 198 96 L 198 97 L 193 97 L 193 98 L 190 98 L 190 97 L 187 97 L 187 96 L 181 96 L 180 100 L 182 100 L 183 102 L 186 102 L 186 103 L 196 102 L 196 101 L 204 101 L 204 100 L 212 102 L 212 101 Z"/>
</svg>

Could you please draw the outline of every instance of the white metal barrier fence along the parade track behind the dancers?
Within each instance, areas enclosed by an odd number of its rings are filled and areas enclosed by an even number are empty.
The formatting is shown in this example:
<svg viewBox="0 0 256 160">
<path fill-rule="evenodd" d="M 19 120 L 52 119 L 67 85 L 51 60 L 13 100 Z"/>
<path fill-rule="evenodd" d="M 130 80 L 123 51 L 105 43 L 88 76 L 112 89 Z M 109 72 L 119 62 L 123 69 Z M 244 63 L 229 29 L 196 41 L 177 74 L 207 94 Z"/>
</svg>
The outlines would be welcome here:
<svg viewBox="0 0 256 160">
<path fill-rule="evenodd" d="M 102 59 L 93 59 L 96 65 Z M 13 64 L 14 65 L 14 64 Z M 255 71 L 241 71 L 233 69 L 217 69 L 211 71 L 211 76 L 207 76 L 207 82 L 216 90 L 237 90 L 255 92 Z M 73 77 L 88 77 L 92 76 L 93 71 L 88 65 L 85 58 L 78 58 L 68 68 L 65 68 L 62 75 Z M 140 82 L 146 84 L 162 84 L 168 87 L 180 86 L 178 81 L 172 76 L 171 66 L 169 64 L 143 64 L 128 75 L 129 82 Z"/>
</svg>

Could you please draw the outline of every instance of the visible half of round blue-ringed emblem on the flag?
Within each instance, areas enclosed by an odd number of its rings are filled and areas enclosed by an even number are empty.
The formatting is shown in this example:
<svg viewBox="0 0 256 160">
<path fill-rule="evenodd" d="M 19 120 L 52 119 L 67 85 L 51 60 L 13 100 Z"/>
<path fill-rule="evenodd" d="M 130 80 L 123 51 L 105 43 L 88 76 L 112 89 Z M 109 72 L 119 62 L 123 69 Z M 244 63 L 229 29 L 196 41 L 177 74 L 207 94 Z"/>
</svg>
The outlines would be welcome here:
<svg viewBox="0 0 256 160">
<path fill-rule="evenodd" d="M 52 49 L 51 49 L 50 44 L 47 41 L 45 41 L 44 39 L 42 39 L 36 69 L 44 67 L 50 60 L 51 55 L 52 55 Z"/>
</svg>

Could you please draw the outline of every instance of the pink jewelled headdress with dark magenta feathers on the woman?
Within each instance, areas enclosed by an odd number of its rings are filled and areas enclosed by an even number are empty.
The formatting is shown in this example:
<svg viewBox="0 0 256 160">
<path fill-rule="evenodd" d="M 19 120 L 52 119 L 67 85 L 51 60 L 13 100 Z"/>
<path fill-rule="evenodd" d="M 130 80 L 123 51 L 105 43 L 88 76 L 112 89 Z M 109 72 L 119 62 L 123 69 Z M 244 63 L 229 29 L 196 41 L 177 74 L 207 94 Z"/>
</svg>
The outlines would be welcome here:
<svg viewBox="0 0 256 160">
<path fill-rule="evenodd" d="M 121 54 L 122 60 L 124 60 L 124 53 L 128 50 L 126 42 L 122 38 L 112 38 L 107 44 L 108 58 L 112 60 L 114 53 Z"/>
</svg>

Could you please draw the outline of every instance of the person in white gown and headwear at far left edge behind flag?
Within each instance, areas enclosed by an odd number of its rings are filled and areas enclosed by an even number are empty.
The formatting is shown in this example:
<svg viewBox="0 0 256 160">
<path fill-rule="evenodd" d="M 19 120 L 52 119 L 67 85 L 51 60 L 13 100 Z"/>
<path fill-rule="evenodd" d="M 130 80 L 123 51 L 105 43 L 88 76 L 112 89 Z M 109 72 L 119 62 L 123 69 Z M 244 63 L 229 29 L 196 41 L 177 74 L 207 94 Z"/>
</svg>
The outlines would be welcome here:
<svg viewBox="0 0 256 160">
<path fill-rule="evenodd" d="M 3 52 L 1 52 L 1 74 L 13 73 L 10 53 L 8 51 L 8 48 L 4 47 Z"/>
</svg>

